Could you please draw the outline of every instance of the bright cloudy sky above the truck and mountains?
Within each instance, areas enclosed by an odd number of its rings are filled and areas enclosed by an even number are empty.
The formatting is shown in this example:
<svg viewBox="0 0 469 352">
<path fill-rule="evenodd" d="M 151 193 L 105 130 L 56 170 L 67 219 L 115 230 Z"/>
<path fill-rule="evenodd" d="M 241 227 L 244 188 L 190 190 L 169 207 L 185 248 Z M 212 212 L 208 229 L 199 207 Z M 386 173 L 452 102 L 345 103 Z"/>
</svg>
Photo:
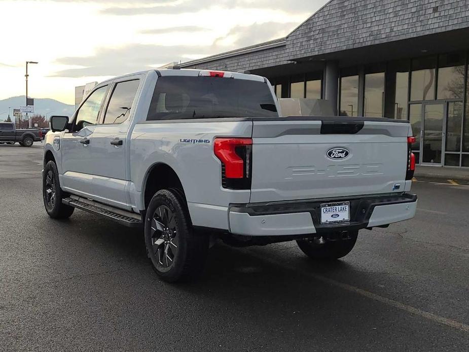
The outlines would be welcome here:
<svg viewBox="0 0 469 352">
<path fill-rule="evenodd" d="M 0 99 L 74 87 L 285 36 L 327 0 L 0 0 Z"/>
</svg>

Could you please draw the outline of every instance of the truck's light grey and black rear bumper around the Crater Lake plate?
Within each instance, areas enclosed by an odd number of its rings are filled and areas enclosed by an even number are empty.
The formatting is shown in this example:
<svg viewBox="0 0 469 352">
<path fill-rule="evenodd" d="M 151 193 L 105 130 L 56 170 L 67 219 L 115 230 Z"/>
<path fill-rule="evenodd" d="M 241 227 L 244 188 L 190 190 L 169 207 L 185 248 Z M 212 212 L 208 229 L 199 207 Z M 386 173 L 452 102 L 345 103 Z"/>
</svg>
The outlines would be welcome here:
<svg viewBox="0 0 469 352">
<path fill-rule="evenodd" d="M 350 222 L 320 223 L 321 204 L 332 201 L 350 202 Z M 372 198 L 237 204 L 229 209 L 229 226 L 231 233 L 246 236 L 352 231 L 412 219 L 416 209 L 417 196 L 407 193 Z"/>
</svg>

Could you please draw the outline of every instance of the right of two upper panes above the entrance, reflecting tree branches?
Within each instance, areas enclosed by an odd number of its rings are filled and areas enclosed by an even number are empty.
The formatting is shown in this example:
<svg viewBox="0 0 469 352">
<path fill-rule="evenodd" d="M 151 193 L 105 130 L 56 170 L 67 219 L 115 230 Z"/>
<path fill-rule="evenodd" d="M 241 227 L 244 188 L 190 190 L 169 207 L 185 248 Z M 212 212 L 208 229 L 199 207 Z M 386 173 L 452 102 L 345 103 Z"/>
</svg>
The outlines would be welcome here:
<svg viewBox="0 0 469 352">
<path fill-rule="evenodd" d="M 465 55 L 440 55 L 437 99 L 462 99 L 464 96 Z"/>
</svg>

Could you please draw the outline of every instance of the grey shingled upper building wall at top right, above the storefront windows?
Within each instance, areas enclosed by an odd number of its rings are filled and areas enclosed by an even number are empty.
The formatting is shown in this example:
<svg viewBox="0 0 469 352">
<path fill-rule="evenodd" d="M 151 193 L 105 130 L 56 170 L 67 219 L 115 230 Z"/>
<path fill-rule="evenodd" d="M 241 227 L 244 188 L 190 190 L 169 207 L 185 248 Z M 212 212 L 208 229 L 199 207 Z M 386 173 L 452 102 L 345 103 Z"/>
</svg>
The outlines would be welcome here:
<svg viewBox="0 0 469 352">
<path fill-rule="evenodd" d="M 333 0 L 287 37 L 291 58 L 465 28 L 469 2 Z"/>
</svg>

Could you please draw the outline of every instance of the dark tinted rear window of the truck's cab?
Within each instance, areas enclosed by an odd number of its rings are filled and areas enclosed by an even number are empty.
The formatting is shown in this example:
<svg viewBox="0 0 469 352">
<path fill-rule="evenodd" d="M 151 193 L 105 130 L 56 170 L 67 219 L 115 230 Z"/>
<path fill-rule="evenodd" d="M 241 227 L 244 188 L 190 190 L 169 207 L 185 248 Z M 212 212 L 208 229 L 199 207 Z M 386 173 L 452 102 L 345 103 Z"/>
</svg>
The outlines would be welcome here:
<svg viewBox="0 0 469 352">
<path fill-rule="evenodd" d="M 215 77 L 158 78 L 147 120 L 278 116 L 264 82 Z"/>
</svg>

